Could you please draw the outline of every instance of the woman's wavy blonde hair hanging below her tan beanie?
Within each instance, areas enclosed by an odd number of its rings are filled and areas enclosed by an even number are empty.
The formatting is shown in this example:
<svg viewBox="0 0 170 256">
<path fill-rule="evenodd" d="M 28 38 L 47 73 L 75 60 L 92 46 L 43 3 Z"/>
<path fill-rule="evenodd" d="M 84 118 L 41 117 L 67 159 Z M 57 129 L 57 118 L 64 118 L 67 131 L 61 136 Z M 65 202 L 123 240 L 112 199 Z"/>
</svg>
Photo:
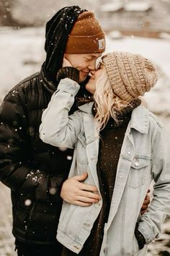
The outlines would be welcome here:
<svg viewBox="0 0 170 256">
<path fill-rule="evenodd" d="M 94 119 L 98 122 L 99 129 L 104 129 L 110 116 L 117 122 L 116 111 L 130 105 L 130 103 L 122 101 L 115 95 L 105 68 L 102 76 L 97 80 L 93 98 L 97 111 Z"/>
</svg>

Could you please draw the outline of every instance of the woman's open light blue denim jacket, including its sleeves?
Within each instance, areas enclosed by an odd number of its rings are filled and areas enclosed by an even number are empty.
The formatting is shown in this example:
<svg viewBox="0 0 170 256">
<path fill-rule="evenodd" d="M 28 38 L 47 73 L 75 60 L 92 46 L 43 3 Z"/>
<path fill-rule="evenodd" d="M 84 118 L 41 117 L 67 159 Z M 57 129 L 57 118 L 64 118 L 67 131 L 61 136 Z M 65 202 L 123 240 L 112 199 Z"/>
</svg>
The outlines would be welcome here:
<svg viewBox="0 0 170 256">
<path fill-rule="evenodd" d="M 50 145 L 74 148 L 73 163 L 69 176 L 86 171 L 86 184 L 97 186 L 97 157 L 99 130 L 91 114 L 93 103 L 79 107 L 71 116 L 79 85 L 69 79 L 61 80 L 48 108 L 42 114 L 40 138 Z M 113 148 L 114 150 L 114 148 Z M 140 216 L 140 208 L 154 180 L 153 200 L 148 213 Z M 89 207 L 71 205 L 63 201 L 57 239 L 77 254 L 91 232 L 102 208 L 102 200 Z M 147 108 L 133 110 L 120 159 L 109 218 L 104 226 L 104 238 L 100 256 L 146 255 L 147 245 L 138 250 L 135 224 L 139 231 L 152 242 L 161 232 L 161 223 L 170 213 L 170 143 L 163 125 Z"/>
</svg>

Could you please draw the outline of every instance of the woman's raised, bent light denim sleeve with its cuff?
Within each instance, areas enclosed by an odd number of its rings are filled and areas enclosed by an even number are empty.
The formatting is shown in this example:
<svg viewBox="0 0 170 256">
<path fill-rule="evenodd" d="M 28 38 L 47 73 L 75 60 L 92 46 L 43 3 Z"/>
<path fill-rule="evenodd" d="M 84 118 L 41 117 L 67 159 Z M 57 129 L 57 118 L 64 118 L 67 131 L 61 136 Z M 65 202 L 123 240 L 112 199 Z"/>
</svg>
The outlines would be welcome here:
<svg viewBox="0 0 170 256">
<path fill-rule="evenodd" d="M 79 91 L 79 84 L 68 78 L 61 80 L 48 108 L 42 114 L 40 138 L 43 142 L 62 148 L 74 148 L 81 131 L 81 113 L 68 116 Z"/>
</svg>

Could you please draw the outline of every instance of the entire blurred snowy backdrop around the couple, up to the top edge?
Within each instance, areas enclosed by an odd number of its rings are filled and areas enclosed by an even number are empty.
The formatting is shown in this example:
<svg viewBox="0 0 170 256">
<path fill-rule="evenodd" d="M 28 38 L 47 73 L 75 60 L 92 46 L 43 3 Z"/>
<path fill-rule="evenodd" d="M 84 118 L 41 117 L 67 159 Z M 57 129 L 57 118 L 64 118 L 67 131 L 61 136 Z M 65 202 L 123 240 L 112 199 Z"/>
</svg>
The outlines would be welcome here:
<svg viewBox="0 0 170 256">
<path fill-rule="evenodd" d="M 17 82 L 40 70 L 45 22 L 71 5 L 95 12 L 107 52 L 143 54 L 156 64 L 159 80 L 145 98 L 170 135 L 170 0 L 0 0 L 0 103 Z M 0 184 L 0 256 L 14 255 L 10 192 Z M 150 255 L 170 255 L 168 218 L 161 237 L 149 245 Z"/>
</svg>

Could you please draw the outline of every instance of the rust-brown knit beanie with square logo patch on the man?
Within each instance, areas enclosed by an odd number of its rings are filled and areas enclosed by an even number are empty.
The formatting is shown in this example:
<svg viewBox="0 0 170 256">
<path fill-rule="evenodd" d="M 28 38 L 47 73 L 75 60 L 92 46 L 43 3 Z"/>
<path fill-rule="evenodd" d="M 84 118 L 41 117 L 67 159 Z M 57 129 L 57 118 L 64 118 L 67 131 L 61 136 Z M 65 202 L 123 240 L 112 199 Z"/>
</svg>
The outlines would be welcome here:
<svg viewBox="0 0 170 256">
<path fill-rule="evenodd" d="M 66 54 L 100 54 L 105 50 L 102 27 L 94 12 L 82 12 L 68 35 Z"/>
</svg>

